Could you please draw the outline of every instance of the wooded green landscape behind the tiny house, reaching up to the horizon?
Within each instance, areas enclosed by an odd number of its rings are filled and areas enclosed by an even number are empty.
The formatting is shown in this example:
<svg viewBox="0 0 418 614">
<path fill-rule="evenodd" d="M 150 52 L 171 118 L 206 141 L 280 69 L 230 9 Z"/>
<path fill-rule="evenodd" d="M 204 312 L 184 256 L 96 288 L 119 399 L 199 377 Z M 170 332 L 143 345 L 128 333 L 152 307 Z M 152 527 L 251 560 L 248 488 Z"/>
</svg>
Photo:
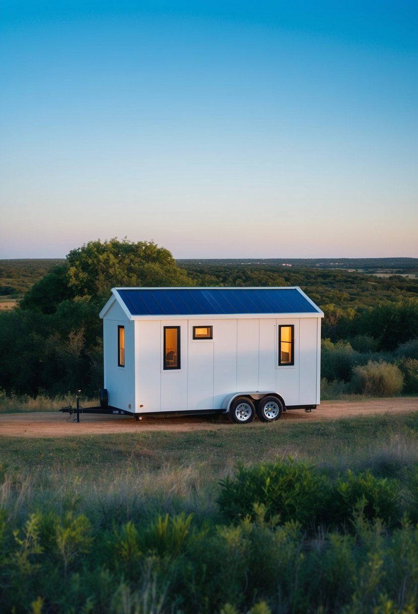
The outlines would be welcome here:
<svg viewBox="0 0 418 614">
<path fill-rule="evenodd" d="M 154 243 L 111 239 L 91 241 L 55 264 L 4 262 L 10 288 L 25 289 L 18 308 L 0 313 L 0 389 L 8 397 L 78 389 L 95 396 L 102 386 L 98 314 L 112 286 L 194 285 L 302 287 L 325 313 L 322 398 L 418 393 L 414 258 L 358 263 L 369 272 L 385 266 L 411 275 L 389 278 L 351 270 L 352 260 L 184 260 L 180 266 Z"/>
</svg>

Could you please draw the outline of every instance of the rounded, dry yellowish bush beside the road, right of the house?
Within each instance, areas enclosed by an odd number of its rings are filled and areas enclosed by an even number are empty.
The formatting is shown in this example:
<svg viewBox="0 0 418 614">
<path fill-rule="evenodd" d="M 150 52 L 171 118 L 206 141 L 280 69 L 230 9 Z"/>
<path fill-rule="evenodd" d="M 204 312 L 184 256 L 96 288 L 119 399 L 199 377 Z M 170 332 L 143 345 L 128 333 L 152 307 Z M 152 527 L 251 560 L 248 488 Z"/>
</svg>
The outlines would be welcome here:
<svg viewBox="0 0 418 614">
<path fill-rule="evenodd" d="M 367 365 L 354 367 L 351 389 L 370 397 L 394 397 L 402 392 L 403 375 L 396 365 L 369 360 Z"/>
</svg>

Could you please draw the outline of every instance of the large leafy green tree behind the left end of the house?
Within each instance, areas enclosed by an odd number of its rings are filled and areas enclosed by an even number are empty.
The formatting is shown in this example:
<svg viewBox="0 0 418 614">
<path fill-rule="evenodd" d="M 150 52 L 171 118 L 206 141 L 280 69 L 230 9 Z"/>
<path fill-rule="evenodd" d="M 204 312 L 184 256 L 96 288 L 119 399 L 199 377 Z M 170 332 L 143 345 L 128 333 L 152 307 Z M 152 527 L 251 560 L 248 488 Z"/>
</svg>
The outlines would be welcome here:
<svg viewBox="0 0 418 614">
<path fill-rule="evenodd" d="M 0 389 L 51 394 L 102 386 L 99 311 L 114 286 L 191 286 L 172 254 L 153 242 L 90 241 L 73 249 L 0 314 Z"/>
</svg>

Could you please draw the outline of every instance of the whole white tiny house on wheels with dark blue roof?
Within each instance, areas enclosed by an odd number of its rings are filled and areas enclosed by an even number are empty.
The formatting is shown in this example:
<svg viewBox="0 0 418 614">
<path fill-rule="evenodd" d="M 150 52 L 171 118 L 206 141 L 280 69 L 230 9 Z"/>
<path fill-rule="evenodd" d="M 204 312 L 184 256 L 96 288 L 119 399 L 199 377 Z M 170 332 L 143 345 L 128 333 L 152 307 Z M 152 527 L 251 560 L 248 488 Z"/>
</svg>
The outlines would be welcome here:
<svg viewBox="0 0 418 614">
<path fill-rule="evenodd" d="M 298 287 L 113 288 L 101 406 L 238 423 L 315 408 L 323 316 Z"/>
</svg>

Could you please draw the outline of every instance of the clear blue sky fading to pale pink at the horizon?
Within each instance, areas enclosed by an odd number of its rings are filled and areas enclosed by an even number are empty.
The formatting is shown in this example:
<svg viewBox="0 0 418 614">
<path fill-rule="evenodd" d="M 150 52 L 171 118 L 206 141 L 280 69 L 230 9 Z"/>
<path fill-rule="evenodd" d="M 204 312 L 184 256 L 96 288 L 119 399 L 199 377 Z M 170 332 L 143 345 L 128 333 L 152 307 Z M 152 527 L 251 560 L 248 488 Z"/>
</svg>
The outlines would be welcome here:
<svg viewBox="0 0 418 614">
<path fill-rule="evenodd" d="M 418 257 L 416 0 L 0 0 L 0 258 Z"/>
</svg>

